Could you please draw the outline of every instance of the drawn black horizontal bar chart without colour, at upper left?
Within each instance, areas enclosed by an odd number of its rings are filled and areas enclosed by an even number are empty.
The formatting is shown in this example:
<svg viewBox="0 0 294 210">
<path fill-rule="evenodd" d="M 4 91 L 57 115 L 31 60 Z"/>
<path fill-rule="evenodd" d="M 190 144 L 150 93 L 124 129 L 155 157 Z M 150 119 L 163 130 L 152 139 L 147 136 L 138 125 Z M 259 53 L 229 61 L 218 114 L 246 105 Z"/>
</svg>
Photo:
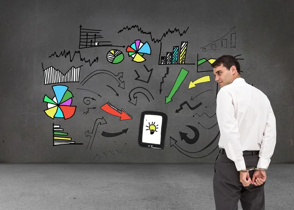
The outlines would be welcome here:
<svg viewBox="0 0 294 210">
<path fill-rule="evenodd" d="M 103 41 L 101 35 L 102 30 L 98 29 L 86 29 L 80 26 L 80 38 L 79 38 L 79 49 L 83 48 L 95 48 L 95 47 L 121 47 L 125 46 L 112 45 L 110 41 Z M 108 44 L 106 44 L 108 43 Z"/>
</svg>

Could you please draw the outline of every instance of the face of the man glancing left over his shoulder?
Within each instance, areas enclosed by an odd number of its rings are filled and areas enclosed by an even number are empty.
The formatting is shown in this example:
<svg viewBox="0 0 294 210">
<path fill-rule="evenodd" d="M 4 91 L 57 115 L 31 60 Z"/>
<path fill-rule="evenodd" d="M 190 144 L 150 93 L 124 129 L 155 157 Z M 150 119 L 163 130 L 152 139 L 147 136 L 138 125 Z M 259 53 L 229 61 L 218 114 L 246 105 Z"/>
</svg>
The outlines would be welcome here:
<svg viewBox="0 0 294 210">
<path fill-rule="evenodd" d="M 227 70 L 227 68 L 225 68 L 222 64 L 221 66 L 213 68 L 213 74 L 216 77 L 215 80 L 219 83 L 221 88 L 233 82 L 232 73 L 232 67 L 230 68 L 230 70 Z"/>
</svg>

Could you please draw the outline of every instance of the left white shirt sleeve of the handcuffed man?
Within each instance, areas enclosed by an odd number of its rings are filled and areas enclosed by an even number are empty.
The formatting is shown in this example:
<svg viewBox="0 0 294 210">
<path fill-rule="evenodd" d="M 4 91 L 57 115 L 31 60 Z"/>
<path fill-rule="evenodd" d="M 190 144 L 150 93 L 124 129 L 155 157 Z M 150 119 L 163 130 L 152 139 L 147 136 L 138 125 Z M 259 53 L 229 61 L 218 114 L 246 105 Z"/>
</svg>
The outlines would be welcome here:
<svg viewBox="0 0 294 210">
<path fill-rule="evenodd" d="M 217 95 L 217 119 L 224 140 L 224 149 L 229 159 L 235 162 L 237 171 L 245 170 L 245 160 L 241 148 L 241 135 L 238 129 L 238 122 L 235 118 L 233 97 L 230 93 L 221 88 Z"/>
</svg>

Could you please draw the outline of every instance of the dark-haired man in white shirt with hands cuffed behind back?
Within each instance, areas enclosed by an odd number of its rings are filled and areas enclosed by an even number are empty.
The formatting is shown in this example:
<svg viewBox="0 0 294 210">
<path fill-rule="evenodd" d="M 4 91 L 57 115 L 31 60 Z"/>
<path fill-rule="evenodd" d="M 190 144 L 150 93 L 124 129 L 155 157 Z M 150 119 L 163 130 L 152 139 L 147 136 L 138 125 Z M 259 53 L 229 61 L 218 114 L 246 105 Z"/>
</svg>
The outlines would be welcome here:
<svg viewBox="0 0 294 210">
<path fill-rule="evenodd" d="M 266 170 L 276 144 L 276 122 L 268 97 L 241 78 L 231 55 L 212 63 L 221 132 L 213 191 L 216 210 L 265 210 Z"/>
</svg>

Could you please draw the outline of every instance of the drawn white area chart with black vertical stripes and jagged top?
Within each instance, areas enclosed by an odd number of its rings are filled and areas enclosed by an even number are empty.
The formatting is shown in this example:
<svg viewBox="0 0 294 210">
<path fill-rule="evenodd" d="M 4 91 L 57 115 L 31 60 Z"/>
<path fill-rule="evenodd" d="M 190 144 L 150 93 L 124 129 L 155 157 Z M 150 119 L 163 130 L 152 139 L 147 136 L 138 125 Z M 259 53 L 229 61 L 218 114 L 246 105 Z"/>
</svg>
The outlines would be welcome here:
<svg viewBox="0 0 294 210">
<path fill-rule="evenodd" d="M 53 66 L 48 67 L 44 70 L 43 63 L 42 69 L 44 74 L 44 84 L 56 84 L 56 83 L 65 83 L 65 82 L 78 82 L 80 75 L 80 67 L 70 68 L 66 74 L 63 74 L 58 69 L 55 69 Z"/>
</svg>

